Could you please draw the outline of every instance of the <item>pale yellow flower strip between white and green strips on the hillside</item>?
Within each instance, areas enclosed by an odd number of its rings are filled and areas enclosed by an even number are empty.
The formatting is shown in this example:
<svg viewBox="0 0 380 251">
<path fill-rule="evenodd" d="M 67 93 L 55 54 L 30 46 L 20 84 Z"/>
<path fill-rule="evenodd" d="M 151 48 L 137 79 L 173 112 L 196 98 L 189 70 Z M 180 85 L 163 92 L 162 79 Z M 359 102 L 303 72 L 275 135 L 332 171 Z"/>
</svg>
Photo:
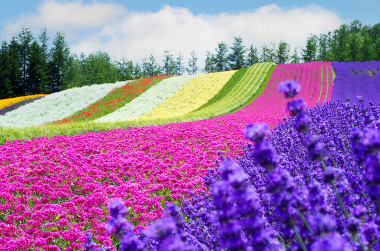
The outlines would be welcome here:
<svg viewBox="0 0 380 251">
<path fill-rule="evenodd" d="M 135 120 L 170 118 L 193 111 L 216 95 L 235 71 L 198 75 L 172 96 Z"/>
</svg>

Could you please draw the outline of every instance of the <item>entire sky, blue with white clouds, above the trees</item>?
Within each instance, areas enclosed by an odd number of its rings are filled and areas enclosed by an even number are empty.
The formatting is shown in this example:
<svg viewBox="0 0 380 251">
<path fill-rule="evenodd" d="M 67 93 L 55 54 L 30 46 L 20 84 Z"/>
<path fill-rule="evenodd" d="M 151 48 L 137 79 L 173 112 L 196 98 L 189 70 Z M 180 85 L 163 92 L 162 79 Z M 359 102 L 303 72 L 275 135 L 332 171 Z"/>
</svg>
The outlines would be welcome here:
<svg viewBox="0 0 380 251">
<path fill-rule="evenodd" d="M 36 37 L 47 28 L 65 34 L 72 52 L 107 51 L 111 57 L 140 61 L 164 50 L 185 58 L 194 49 L 199 61 L 217 42 L 241 36 L 260 50 L 284 40 L 304 46 L 308 35 L 327 33 L 359 19 L 380 22 L 380 0 L 0 0 L 0 40 L 9 40 L 21 25 Z"/>
</svg>

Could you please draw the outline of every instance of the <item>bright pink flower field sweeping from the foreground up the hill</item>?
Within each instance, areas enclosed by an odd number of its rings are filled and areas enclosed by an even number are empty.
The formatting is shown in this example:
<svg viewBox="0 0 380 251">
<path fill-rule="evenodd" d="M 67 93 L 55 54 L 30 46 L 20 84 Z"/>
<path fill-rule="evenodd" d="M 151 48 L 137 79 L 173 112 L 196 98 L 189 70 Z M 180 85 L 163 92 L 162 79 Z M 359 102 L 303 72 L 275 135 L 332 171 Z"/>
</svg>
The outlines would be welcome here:
<svg viewBox="0 0 380 251">
<path fill-rule="evenodd" d="M 111 246 L 106 205 L 117 198 L 136 230 L 145 228 L 163 216 L 167 202 L 180 201 L 188 189 L 205 190 L 202 177 L 217 150 L 242 153 L 247 123 L 272 127 L 287 114 L 279 81 L 299 79 L 300 96 L 314 105 L 320 88 L 315 65 L 277 65 L 262 94 L 231 114 L 0 145 L 0 246 L 77 250 L 85 232 Z"/>
</svg>

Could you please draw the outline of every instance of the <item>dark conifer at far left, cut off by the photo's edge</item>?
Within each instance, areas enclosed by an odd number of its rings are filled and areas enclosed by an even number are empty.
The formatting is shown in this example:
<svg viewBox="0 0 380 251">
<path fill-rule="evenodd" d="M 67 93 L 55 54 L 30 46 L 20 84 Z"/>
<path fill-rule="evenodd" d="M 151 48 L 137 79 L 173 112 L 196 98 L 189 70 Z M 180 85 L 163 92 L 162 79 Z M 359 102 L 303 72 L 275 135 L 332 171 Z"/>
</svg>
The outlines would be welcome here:
<svg viewBox="0 0 380 251">
<path fill-rule="evenodd" d="M 11 97 L 13 94 L 10 61 L 9 47 L 5 41 L 2 41 L 0 48 L 0 99 Z"/>
</svg>

